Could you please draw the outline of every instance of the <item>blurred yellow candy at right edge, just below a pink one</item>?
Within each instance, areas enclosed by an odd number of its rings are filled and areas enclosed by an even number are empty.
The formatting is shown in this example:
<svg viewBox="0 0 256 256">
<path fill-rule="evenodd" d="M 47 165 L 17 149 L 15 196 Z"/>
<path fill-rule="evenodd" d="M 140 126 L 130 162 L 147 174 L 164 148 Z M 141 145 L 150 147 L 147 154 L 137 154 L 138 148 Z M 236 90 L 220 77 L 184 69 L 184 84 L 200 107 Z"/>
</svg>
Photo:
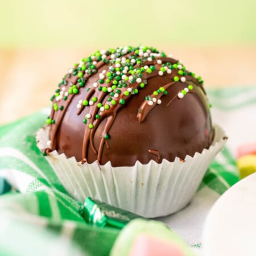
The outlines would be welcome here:
<svg viewBox="0 0 256 256">
<path fill-rule="evenodd" d="M 240 179 L 256 172 L 256 155 L 243 155 L 237 159 Z"/>
</svg>

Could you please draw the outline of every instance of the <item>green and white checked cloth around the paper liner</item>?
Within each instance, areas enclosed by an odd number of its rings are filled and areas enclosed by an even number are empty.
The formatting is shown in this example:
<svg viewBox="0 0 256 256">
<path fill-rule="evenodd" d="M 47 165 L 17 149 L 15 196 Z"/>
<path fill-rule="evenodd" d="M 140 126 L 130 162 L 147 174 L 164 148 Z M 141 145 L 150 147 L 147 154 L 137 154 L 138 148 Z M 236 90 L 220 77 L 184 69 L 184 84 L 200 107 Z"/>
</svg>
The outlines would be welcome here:
<svg viewBox="0 0 256 256">
<path fill-rule="evenodd" d="M 241 132 L 233 127 L 234 117 L 255 113 L 254 88 L 212 90 L 208 95 L 213 120 L 229 137 Z M 13 187 L 0 196 L 0 255 L 109 255 L 119 230 L 86 224 L 81 204 L 68 196 L 36 147 L 35 133 L 48 113 L 49 108 L 42 109 L 0 127 L 0 176 Z M 246 117 L 241 119 L 243 127 L 250 119 Z M 159 218 L 193 247 L 201 246 L 201 230 L 210 207 L 238 181 L 233 156 L 236 139 L 230 138 L 214 159 L 191 204 Z"/>
</svg>

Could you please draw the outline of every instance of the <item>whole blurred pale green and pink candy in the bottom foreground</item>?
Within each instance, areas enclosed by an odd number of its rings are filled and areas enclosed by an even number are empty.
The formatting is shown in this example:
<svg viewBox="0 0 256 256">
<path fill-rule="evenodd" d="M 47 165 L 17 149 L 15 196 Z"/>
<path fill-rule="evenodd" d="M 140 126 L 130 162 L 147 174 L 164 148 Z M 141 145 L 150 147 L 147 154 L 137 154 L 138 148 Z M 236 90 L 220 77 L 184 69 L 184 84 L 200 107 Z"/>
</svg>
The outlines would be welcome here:
<svg viewBox="0 0 256 256">
<path fill-rule="evenodd" d="M 154 245 L 154 246 L 153 246 Z M 154 248 L 153 248 L 154 247 Z M 154 252 L 154 254 L 151 253 Z M 168 253 L 168 254 L 167 254 Z M 170 254 L 172 253 L 172 254 Z M 170 255 L 194 256 L 193 251 L 177 234 L 160 221 L 132 220 L 121 230 L 110 256 Z"/>
</svg>

